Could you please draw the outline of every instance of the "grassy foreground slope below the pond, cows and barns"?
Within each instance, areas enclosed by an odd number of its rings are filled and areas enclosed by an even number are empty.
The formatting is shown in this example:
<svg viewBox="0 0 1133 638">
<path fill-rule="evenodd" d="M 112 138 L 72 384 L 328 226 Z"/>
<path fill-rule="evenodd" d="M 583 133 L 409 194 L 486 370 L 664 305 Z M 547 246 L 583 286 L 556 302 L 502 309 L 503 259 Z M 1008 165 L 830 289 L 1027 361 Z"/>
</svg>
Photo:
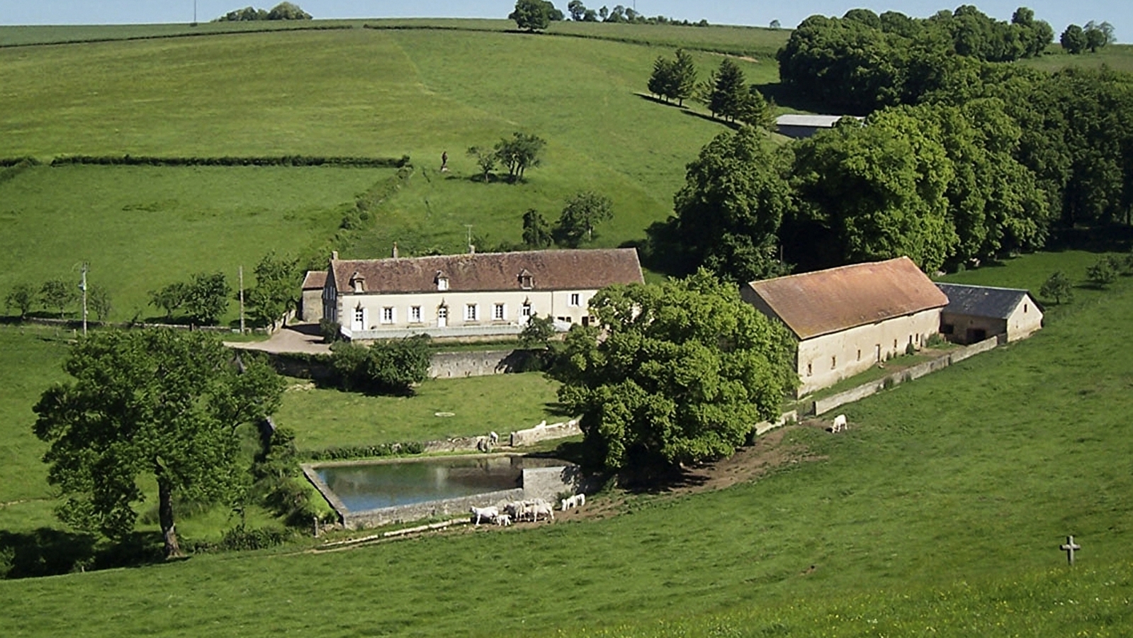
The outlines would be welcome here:
<svg viewBox="0 0 1133 638">
<path fill-rule="evenodd" d="M 1033 258 L 987 271 L 995 282 L 1045 272 Z M 82 618 L 91 635 L 512 635 L 629 623 L 619 632 L 648 635 L 723 614 L 724 635 L 782 631 L 776 622 L 792 635 L 900 635 L 926 619 L 965 635 L 997 632 L 985 623 L 998 614 L 1036 635 L 1116 635 L 1133 593 L 1133 364 L 1113 355 L 1127 341 L 1133 279 L 1082 289 L 1071 307 L 1030 340 L 849 406 L 845 436 L 791 433 L 820 460 L 753 484 L 632 497 L 622 516 L 587 524 L 0 582 L 0 628 L 51 632 Z M 1088 547 L 1074 576 L 1048 572 L 1066 534 Z M 1089 609 L 1047 613 L 1087 593 L 1099 597 Z"/>
</svg>

